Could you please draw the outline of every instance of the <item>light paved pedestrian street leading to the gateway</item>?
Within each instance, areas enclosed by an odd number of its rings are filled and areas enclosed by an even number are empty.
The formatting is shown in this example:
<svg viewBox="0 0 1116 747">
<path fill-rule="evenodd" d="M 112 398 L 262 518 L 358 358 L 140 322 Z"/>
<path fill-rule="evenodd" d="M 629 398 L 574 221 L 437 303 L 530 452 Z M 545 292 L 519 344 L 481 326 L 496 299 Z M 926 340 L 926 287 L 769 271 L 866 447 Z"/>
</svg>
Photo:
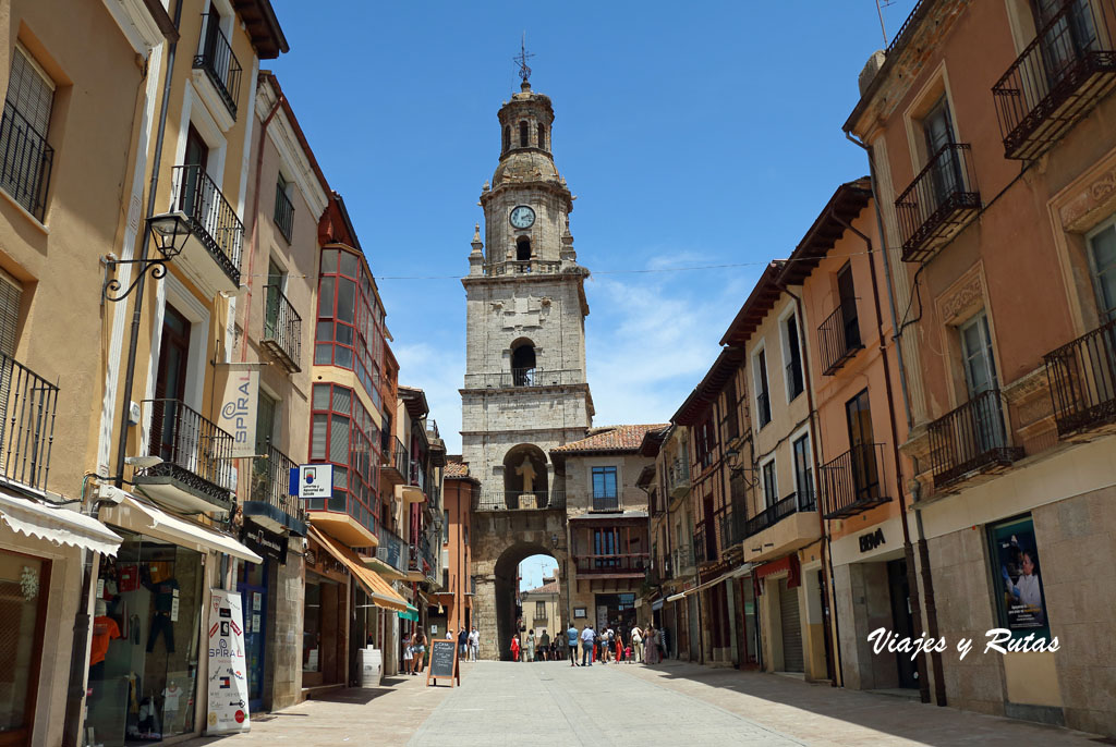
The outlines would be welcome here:
<svg viewBox="0 0 1116 747">
<path fill-rule="evenodd" d="M 196 745 L 1043 745 L 1089 735 L 694 664 L 465 664 L 462 687 L 347 690 Z"/>
</svg>

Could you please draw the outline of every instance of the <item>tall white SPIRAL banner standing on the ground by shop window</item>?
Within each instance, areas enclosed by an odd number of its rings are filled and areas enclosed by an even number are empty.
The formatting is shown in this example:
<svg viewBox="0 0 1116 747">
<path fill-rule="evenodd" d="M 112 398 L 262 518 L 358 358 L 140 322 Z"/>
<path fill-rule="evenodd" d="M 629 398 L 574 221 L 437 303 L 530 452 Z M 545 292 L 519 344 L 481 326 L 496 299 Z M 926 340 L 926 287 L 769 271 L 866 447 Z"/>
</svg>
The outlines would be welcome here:
<svg viewBox="0 0 1116 747">
<path fill-rule="evenodd" d="M 240 594 L 211 590 L 206 734 L 248 731 L 248 666 Z"/>
</svg>

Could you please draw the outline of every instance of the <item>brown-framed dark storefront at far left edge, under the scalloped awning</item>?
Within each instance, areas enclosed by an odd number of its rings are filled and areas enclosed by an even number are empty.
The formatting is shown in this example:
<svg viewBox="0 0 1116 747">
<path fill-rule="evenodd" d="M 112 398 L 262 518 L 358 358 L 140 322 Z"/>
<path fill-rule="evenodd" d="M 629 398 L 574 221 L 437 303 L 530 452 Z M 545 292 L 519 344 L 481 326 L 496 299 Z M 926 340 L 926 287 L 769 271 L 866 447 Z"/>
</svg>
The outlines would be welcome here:
<svg viewBox="0 0 1116 747">
<path fill-rule="evenodd" d="M 50 562 L 0 551 L 0 744 L 25 744 L 33 716 Z"/>
</svg>

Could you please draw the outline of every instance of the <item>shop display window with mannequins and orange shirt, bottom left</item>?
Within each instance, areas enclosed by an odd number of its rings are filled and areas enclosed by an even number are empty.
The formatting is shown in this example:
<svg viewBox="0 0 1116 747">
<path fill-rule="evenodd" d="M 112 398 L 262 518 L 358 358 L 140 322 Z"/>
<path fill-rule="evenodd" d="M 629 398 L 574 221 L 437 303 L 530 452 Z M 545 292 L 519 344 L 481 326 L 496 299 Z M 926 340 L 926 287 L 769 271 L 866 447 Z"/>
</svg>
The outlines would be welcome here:
<svg viewBox="0 0 1116 747">
<path fill-rule="evenodd" d="M 194 730 L 204 555 L 114 527 L 102 557 L 89 657 L 87 744 L 161 741 Z"/>
</svg>

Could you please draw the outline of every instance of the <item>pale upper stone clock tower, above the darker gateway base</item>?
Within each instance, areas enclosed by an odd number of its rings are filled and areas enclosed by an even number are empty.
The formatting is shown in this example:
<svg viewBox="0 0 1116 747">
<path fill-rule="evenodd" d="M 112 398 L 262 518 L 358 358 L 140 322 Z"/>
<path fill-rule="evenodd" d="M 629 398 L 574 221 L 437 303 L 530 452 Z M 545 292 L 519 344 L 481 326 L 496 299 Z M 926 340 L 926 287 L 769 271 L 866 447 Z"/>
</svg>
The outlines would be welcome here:
<svg viewBox="0 0 1116 747">
<path fill-rule="evenodd" d="M 550 449 L 584 438 L 591 425 L 589 272 L 569 232 L 575 197 L 555 167 L 554 119 L 550 98 L 526 79 L 500 107 L 500 162 L 480 197 L 484 239 L 478 224 L 461 281 L 462 458 L 488 511 L 564 506 Z"/>
</svg>

